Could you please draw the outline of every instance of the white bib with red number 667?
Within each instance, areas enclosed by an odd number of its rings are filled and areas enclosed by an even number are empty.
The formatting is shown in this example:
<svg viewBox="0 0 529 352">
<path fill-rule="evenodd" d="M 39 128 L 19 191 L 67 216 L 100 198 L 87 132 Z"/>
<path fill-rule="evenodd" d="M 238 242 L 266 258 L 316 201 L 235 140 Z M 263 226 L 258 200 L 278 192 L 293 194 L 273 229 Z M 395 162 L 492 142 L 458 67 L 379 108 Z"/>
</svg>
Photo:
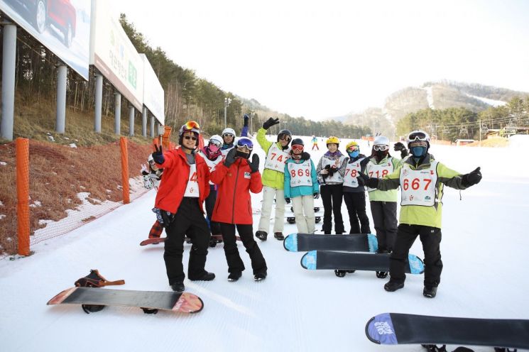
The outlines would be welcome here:
<svg viewBox="0 0 529 352">
<path fill-rule="evenodd" d="M 432 207 L 436 202 L 437 161 L 430 168 L 412 170 L 404 164 L 400 169 L 400 205 L 422 205 Z"/>
</svg>

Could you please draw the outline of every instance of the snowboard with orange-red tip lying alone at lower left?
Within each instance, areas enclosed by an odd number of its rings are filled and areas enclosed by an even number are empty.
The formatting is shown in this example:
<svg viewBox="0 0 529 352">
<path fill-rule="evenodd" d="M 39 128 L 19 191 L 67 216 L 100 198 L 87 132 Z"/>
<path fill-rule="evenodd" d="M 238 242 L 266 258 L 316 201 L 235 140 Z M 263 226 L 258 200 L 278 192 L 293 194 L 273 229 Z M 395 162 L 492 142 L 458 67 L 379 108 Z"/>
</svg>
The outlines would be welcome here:
<svg viewBox="0 0 529 352">
<path fill-rule="evenodd" d="M 50 299 L 52 304 L 97 304 L 104 306 L 163 309 L 197 313 L 204 307 L 200 297 L 188 292 L 110 290 L 99 287 L 72 287 Z"/>
</svg>

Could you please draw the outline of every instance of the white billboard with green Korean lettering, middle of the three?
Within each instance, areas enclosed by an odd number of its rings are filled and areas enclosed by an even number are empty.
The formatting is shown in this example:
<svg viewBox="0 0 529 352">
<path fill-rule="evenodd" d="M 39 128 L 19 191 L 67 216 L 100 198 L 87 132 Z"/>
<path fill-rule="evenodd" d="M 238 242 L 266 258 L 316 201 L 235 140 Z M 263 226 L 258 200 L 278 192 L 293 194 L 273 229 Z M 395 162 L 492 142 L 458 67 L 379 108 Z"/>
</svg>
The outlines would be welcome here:
<svg viewBox="0 0 529 352">
<path fill-rule="evenodd" d="M 139 111 L 143 108 L 143 60 L 107 0 L 92 1 L 90 64 Z"/>
</svg>

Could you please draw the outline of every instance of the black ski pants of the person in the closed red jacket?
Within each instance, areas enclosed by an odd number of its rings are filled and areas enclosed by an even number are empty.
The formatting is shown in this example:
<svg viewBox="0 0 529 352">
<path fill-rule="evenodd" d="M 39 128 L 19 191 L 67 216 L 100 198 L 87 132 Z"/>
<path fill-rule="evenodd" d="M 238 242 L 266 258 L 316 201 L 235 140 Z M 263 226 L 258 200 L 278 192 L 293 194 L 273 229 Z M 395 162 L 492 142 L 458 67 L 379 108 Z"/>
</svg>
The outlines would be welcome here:
<svg viewBox="0 0 529 352">
<path fill-rule="evenodd" d="M 239 232 L 239 237 L 244 248 L 246 248 L 246 253 L 250 255 L 253 275 L 266 274 L 266 261 L 257 242 L 253 239 L 251 224 L 235 225 L 222 222 L 220 223 L 220 230 L 222 232 L 222 241 L 224 242 L 224 254 L 228 262 L 228 273 L 242 273 L 244 270 L 244 263 L 241 260 L 241 255 L 239 255 L 239 249 L 237 248 L 235 227 Z"/>
</svg>

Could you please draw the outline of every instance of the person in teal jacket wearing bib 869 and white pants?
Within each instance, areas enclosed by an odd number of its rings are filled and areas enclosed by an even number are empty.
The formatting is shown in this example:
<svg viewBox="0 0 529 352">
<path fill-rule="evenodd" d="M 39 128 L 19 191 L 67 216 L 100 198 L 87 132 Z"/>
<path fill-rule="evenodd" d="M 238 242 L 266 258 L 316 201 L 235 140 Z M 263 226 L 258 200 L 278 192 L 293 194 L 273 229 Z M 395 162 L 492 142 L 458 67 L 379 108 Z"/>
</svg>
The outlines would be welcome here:
<svg viewBox="0 0 529 352">
<path fill-rule="evenodd" d="M 314 199 L 320 197 L 316 168 L 310 154 L 303 151 L 301 138 L 294 138 L 290 145 L 290 159 L 285 165 L 285 202 L 288 204 L 292 199 L 298 233 L 314 233 Z"/>
</svg>

